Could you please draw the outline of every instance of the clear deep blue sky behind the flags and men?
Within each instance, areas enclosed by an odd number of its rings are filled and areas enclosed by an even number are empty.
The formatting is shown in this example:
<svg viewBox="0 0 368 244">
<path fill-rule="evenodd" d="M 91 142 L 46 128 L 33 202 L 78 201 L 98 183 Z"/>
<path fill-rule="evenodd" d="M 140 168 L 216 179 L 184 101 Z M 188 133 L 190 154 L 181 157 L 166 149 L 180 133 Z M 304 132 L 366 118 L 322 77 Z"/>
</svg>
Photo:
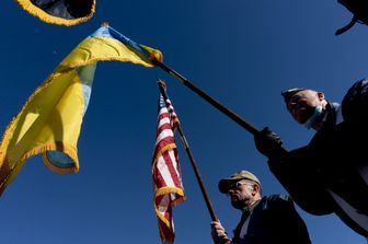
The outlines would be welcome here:
<svg viewBox="0 0 368 244">
<path fill-rule="evenodd" d="M 14 1 L 1 1 L 0 129 L 73 47 L 102 22 L 163 53 L 164 62 L 257 128 L 269 126 L 288 149 L 313 131 L 295 124 L 280 91 L 308 86 L 341 101 L 367 77 L 367 26 L 342 36 L 350 20 L 336 1 L 99 1 L 80 25 L 49 25 Z M 101 62 L 79 140 L 80 172 L 51 173 L 30 159 L 0 199 L 1 243 L 160 243 L 150 160 L 156 140 L 157 79 L 168 83 L 215 211 L 226 229 L 240 213 L 217 189 L 239 170 L 264 193 L 286 193 L 253 137 L 159 68 Z M 211 243 L 210 217 L 177 140 L 187 200 L 174 208 L 176 244 Z M 311 179 L 312 181 L 312 179 Z M 315 244 L 366 243 L 335 216 L 298 208 Z"/>
</svg>

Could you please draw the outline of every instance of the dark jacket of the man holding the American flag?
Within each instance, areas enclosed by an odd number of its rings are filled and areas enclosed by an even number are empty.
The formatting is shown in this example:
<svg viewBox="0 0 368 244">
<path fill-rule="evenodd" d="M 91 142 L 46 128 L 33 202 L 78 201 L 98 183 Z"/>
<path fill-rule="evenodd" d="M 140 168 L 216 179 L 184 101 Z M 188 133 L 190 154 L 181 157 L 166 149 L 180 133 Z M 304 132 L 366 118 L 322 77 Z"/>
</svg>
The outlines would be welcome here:
<svg viewBox="0 0 368 244">
<path fill-rule="evenodd" d="M 244 212 L 244 214 L 249 213 Z M 234 230 L 232 244 L 311 243 L 307 226 L 288 196 L 263 197 L 248 218 L 245 235 L 238 236 L 243 225 L 240 223 Z"/>
</svg>

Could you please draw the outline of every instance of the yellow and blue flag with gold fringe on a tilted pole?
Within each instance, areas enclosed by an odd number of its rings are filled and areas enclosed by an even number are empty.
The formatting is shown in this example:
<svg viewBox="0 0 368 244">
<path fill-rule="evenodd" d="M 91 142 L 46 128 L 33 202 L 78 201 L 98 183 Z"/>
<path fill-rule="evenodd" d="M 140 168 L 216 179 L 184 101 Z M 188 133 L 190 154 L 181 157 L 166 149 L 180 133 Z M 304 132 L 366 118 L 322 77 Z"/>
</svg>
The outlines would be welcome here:
<svg viewBox="0 0 368 244">
<path fill-rule="evenodd" d="M 153 67 L 159 50 L 141 46 L 110 26 L 80 43 L 30 96 L 8 126 L 0 144 L 0 193 L 25 160 L 42 153 L 57 173 L 79 170 L 77 142 L 97 61 L 130 61 Z"/>
</svg>

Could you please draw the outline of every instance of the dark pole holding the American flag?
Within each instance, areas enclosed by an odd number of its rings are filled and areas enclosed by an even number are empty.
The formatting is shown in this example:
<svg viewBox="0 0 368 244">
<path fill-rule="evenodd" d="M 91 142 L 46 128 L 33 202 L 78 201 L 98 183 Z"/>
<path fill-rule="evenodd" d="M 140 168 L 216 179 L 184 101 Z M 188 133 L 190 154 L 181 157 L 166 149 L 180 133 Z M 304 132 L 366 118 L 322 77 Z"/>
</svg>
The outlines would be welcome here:
<svg viewBox="0 0 368 244">
<path fill-rule="evenodd" d="M 166 105 L 166 107 L 169 107 L 169 104 L 168 104 L 168 94 L 166 94 L 166 91 L 165 91 L 165 89 L 164 89 L 165 83 L 164 83 L 164 81 L 159 80 L 159 81 L 158 81 L 158 84 L 159 84 L 160 92 L 161 92 L 161 94 L 162 94 L 162 96 L 163 96 L 163 98 L 164 98 L 164 101 L 165 101 L 165 105 Z M 188 146 L 188 143 L 187 143 L 187 140 L 186 140 L 186 138 L 185 138 L 185 135 L 184 135 L 184 132 L 183 132 L 183 129 L 182 129 L 182 126 L 181 126 L 180 123 L 177 124 L 176 129 L 177 129 L 177 131 L 179 131 L 179 133 L 180 133 L 180 136 L 181 136 L 181 139 L 182 139 L 182 142 L 183 142 L 183 144 L 184 144 L 185 151 L 186 151 L 187 155 L 189 156 L 189 161 L 191 161 L 192 167 L 193 167 L 193 170 L 194 170 L 195 176 L 196 176 L 197 182 L 198 182 L 198 184 L 199 184 L 202 195 L 203 195 L 204 198 L 205 198 L 206 206 L 207 206 L 207 209 L 208 209 L 209 214 L 210 214 L 210 217 L 211 217 L 211 220 L 212 220 L 212 221 L 217 221 L 218 219 L 217 219 L 217 217 L 216 217 L 216 213 L 215 213 L 212 204 L 211 204 L 211 201 L 210 201 L 210 199 L 209 199 L 207 189 L 206 189 L 205 184 L 204 184 L 204 182 L 203 182 L 203 179 L 202 179 L 202 176 L 200 176 L 200 174 L 199 174 L 198 166 L 197 166 L 197 164 L 196 164 L 196 162 L 195 162 L 195 160 L 194 160 L 192 150 L 189 149 L 189 146 Z"/>
</svg>

